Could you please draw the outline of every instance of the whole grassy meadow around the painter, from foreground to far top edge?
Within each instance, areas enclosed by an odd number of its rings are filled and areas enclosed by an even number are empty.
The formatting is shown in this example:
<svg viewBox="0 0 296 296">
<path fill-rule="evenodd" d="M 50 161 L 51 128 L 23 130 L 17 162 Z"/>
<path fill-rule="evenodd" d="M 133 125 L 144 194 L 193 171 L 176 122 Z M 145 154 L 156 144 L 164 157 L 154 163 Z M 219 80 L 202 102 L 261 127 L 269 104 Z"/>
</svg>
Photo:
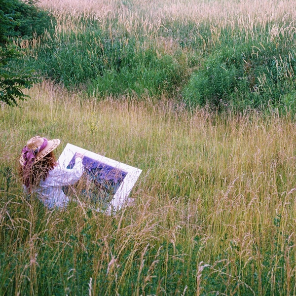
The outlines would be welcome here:
<svg viewBox="0 0 296 296">
<path fill-rule="evenodd" d="M 0 110 L 0 294 L 296 295 L 295 4 L 40 1 L 54 28 L 16 42 L 42 81 Z M 135 205 L 26 196 L 34 135 L 142 169 Z"/>
</svg>

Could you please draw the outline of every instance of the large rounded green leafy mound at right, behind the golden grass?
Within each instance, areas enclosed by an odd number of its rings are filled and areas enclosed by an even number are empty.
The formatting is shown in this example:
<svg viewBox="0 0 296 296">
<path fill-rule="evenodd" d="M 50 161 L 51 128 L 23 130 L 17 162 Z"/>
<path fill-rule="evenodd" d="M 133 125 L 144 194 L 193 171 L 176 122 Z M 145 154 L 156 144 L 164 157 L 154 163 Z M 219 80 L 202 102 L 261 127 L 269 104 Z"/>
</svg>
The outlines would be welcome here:
<svg viewBox="0 0 296 296">
<path fill-rule="evenodd" d="M 222 43 L 191 75 L 186 103 L 212 109 L 278 106 L 295 90 L 296 52 L 287 47 L 258 39 Z"/>
</svg>

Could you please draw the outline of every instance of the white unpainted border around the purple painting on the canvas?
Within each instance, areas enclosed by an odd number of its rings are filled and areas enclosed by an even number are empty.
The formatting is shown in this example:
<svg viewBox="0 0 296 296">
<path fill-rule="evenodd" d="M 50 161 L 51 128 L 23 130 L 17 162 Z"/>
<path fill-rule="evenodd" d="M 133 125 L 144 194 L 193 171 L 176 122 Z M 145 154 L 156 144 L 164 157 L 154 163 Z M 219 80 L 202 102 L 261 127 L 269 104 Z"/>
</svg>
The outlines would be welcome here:
<svg viewBox="0 0 296 296">
<path fill-rule="evenodd" d="M 114 211 L 116 212 L 117 210 L 121 209 L 121 207 L 127 202 L 128 195 L 142 173 L 142 170 L 88 151 L 86 149 L 74 146 L 70 143 L 66 145 L 58 159 L 60 165 L 66 168 L 76 152 L 127 173 L 117 191 L 115 192 L 113 198 L 111 199 L 106 213 L 111 214 Z M 100 211 L 100 209 L 97 209 L 97 211 Z"/>
</svg>

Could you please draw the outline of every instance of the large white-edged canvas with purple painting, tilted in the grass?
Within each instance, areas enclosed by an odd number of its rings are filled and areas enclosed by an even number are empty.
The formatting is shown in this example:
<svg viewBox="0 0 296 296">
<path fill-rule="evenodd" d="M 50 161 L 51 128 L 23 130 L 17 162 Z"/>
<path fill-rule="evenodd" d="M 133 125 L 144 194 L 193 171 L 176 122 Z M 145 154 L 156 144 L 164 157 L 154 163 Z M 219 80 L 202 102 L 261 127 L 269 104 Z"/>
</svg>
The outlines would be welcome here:
<svg viewBox="0 0 296 296">
<path fill-rule="evenodd" d="M 128 202 L 128 195 L 142 170 L 115 161 L 97 153 L 67 144 L 59 157 L 59 163 L 72 169 L 75 153 L 83 155 L 84 174 L 79 180 L 76 196 L 97 211 L 112 213 Z M 65 191 L 69 191 L 65 187 Z M 68 194 L 69 192 L 66 192 Z"/>
</svg>

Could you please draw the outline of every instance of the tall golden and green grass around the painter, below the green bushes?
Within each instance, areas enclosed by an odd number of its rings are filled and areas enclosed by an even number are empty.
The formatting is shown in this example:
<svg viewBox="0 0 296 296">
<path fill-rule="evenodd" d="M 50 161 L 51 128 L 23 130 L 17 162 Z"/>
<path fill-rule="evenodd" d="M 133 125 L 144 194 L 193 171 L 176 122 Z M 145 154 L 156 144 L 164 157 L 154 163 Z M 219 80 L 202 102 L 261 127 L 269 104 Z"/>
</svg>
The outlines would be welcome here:
<svg viewBox="0 0 296 296">
<path fill-rule="evenodd" d="M 44 82 L 0 111 L 1 295 L 294 295 L 291 115 L 188 112 Z M 46 210 L 17 178 L 33 135 L 139 167 L 114 216 Z"/>
</svg>

